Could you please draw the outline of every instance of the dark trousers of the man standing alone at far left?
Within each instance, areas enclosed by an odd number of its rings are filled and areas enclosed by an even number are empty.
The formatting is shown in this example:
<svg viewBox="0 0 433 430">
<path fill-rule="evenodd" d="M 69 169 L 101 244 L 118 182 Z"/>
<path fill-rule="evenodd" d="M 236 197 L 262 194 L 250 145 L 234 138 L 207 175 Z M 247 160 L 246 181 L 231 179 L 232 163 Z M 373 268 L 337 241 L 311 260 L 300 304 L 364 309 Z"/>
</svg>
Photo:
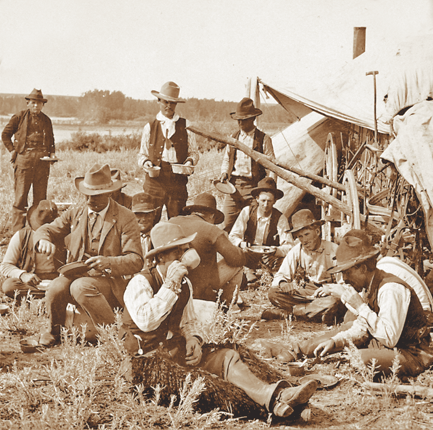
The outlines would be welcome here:
<svg viewBox="0 0 433 430">
<path fill-rule="evenodd" d="M 28 195 L 33 185 L 33 205 L 47 198 L 48 176 L 50 163 L 40 158 L 48 155 L 45 150 L 25 150 L 18 154 L 14 162 L 15 200 L 12 207 L 12 233 L 17 232 L 26 224 L 25 208 L 28 205 Z"/>
</svg>

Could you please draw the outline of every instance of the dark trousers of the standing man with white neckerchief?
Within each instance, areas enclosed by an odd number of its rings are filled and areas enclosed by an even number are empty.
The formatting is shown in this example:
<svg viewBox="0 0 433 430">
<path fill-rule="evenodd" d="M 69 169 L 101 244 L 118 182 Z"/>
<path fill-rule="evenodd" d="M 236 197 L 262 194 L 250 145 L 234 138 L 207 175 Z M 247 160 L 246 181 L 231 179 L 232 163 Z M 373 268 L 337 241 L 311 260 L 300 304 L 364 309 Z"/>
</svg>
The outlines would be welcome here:
<svg viewBox="0 0 433 430">
<path fill-rule="evenodd" d="M 152 202 L 155 212 L 156 224 L 161 218 L 162 206 L 167 208 L 167 217 L 181 215 L 182 209 L 186 206 L 188 193 L 186 184 L 188 177 L 172 172 L 170 163 L 161 161 L 161 170 L 157 178 L 151 178 L 148 173 L 143 184 L 143 191 L 147 194 L 149 202 Z"/>
</svg>

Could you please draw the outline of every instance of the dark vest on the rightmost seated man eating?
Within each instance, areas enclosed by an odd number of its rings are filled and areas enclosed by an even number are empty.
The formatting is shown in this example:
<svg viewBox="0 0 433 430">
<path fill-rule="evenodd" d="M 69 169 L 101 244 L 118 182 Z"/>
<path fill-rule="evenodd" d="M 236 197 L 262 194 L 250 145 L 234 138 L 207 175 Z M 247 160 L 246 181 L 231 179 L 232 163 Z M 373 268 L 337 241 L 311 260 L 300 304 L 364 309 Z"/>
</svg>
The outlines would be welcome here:
<svg viewBox="0 0 433 430">
<path fill-rule="evenodd" d="M 377 293 L 379 289 L 388 282 L 397 282 L 410 290 L 410 302 L 407 309 L 406 321 L 404 322 L 402 335 L 400 336 L 396 347 L 405 349 L 409 345 L 417 345 L 420 343 L 421 339 L 428 334 L 427 317 L 418 296 L 412 287 L 410 287 L 406 282 L 397 276 L 376 269 L 369 293 L 369 306 L 376 313 L 379 312 Z"/>
</svg>

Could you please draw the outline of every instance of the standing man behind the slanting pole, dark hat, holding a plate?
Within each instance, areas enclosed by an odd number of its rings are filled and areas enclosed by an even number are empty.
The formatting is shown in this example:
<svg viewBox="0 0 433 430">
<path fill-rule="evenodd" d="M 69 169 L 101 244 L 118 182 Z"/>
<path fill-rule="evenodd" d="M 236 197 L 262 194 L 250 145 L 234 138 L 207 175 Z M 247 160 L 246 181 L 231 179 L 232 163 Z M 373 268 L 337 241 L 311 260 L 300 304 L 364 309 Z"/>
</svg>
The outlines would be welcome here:
<svg viewBox="0 0 433 430">
<path fill-rule="evenodd" d="M 230 114 L 239 125 L 239 130 L 232 137 L 254 151 L 274 157 L 271 138 L 254 125 L 256 117 L 261 114 L 262 111 L 254 107 L 250 98 L 243 98 L 236 107 L 236 112 Z M 222 209 L 224 214 L 222 228 L 227 233 L 230 233 L 241 209 L 253 202 L 254 198 L 250 194 L 251 188 L 256 187 L 266 173 L 265 168 L 247 154 L 230 145 L 226 146 L 221 164 L 220 181 L 229 181 L 236 187 L 233 194 L 226 195 Z M 277 180 L 277 175 L 273 172 L 268 172 L 268 176 Z"/>
</svg>

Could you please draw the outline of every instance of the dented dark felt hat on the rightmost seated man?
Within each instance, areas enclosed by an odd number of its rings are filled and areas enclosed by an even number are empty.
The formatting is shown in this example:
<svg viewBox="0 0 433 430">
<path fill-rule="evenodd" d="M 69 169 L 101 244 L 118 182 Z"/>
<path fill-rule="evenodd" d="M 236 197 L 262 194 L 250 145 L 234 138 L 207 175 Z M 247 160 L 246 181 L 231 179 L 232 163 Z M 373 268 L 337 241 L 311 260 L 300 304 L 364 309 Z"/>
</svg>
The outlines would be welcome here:
<svg viewBox="0 0 433 430">
<path fill-rule="evenodd" d="M 341 239 L 335 257 L 337 265 L 327 270 L 333 274 L 350 269 L 359 263 L 374 257 L 380 250 L 371 245 L 371 236 L 363 230 L 350 230 Z"/>
</svg>

